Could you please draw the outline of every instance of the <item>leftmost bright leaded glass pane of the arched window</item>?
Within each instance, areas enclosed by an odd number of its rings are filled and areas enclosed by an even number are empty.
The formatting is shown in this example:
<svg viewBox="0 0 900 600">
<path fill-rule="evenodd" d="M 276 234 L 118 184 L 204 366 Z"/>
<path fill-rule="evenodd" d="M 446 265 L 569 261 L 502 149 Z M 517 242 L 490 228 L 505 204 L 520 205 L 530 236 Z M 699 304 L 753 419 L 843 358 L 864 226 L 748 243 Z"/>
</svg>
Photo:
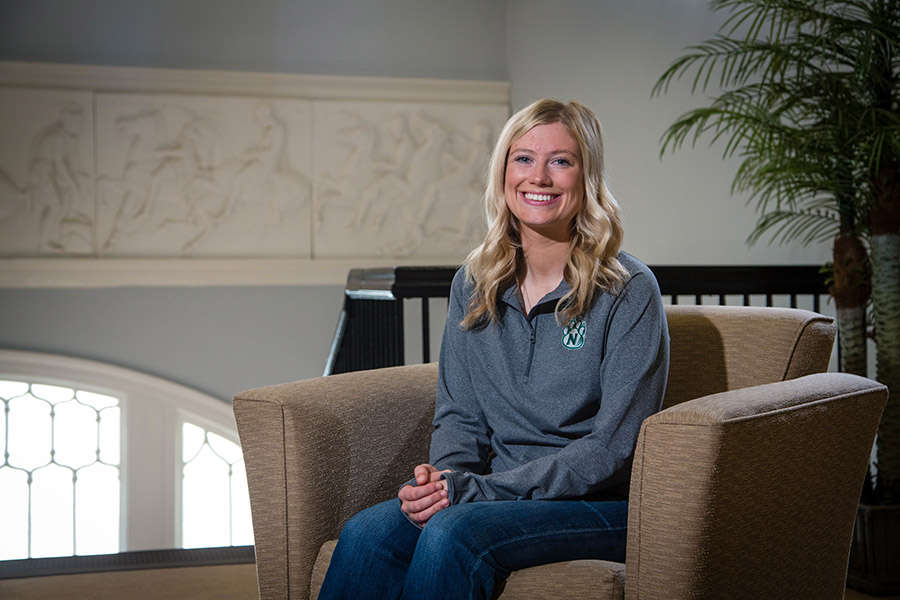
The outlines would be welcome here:
<svg viewBox="0 0 900 600">
<path fill-rule="evenodd" d="M 120 406 L 0 380 L 0 559 L 119 551 Z"/>
</svg>

